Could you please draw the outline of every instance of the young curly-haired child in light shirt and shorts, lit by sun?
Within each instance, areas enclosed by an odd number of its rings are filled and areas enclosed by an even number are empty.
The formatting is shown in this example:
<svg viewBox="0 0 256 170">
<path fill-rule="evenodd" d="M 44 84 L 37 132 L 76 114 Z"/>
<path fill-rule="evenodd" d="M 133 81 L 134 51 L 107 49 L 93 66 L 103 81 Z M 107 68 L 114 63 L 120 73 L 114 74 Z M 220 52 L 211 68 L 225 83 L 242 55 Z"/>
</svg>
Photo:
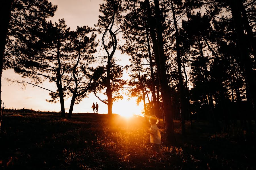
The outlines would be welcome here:
<svg viewBox="0 0 256 170">
<path fill-rule="evenodd" d="M 161 152 L 161 134 L 159 132 L 159 129 L 157 127 L 158 119 L 156 116 L 150 116 L 149 117 L 149 123 L 151 124 L 150 130 L 147 129 L 147 133 L 150 134 L 150 143 L 152 143 L 151 149 L 153 152 L 153 156 L 149 158 L 150 161 L 156 161 L 156 152 L 159 154 L 160 158 L 159 163 L 164 164 L 164 156 Z"/>
</svg>

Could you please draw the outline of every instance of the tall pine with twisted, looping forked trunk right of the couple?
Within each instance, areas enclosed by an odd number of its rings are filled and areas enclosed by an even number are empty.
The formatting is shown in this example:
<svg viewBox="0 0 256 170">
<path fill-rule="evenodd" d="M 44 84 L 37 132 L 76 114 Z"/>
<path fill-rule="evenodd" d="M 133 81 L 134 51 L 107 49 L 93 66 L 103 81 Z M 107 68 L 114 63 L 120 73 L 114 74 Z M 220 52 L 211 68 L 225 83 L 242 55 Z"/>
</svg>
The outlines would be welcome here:
<svg viewBox="0 0 256 170">
<path fill-rule="evenodd" d="M 106 3 L 100 5 L 100 12 L 103 14 L 99 16 L 98 24 L 96 25 L 99 29 L 98 32 L 102 33 L 102 46 L 106 56 L 102 58 L 102 63 L 106 62 L 105 72 L 106 75 L 102 77 L 97 88 L 94 90 L 94 94 L 99 98 L 100 101 L 108 105 L 108 115 L 112 115 L 112 106 L 115 100 L 123 98 L 120 95 L 119 90 L 125 84 L 125 81 L 121 79 L 123 70 L 121 66 L 115 64 L 114 54 L 117 49 L 117 34 L 122 28 L 121 15 L 124 11 L 120 0 L 105 0 Z M 107 100 L 100 99 L 96 93 L 106 90 L 104 93 L 107 95 Z"/>
</svg>

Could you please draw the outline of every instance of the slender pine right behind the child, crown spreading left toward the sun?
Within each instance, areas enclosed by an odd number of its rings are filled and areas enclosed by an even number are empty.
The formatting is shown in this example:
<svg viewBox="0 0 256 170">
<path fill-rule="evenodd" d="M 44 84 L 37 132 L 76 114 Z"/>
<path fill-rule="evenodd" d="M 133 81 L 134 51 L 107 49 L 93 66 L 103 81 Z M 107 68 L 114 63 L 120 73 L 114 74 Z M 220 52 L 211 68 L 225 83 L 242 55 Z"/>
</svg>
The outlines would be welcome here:
<svg viewBox="0 0 256 170">
<path fill-rule="evenodd" d="M 152 94 L 152 100 L 149 100 L 150 109 L 152 115 L 160 116 L 159 108 L 157 108 L 156 103 L 156 89 L 155 89 L 155 62 L 154 53 L 152 52 L 152 43 L 148 31 L 147 17 L 145 16 L 145 11 L 143 11 L 137 5 L 132 4 L 130 6 L 130 12 L 125 16 L 124 28 L 123 28 L 123 38 L 125 39 L 125 44 L 122 46 L 121 50 L 130 56 L 132 59 L 133 68 L 137 67 L 136 62 L 139 61 L 139 65 L 143 64 L 141 67 L 141 72 L 148 72 L 150 76 L 150 91 Z M 148 67 L 149 64 L 149 67 Z M 137 69 L 137 71 L 139 71 Z"/>
</svg>

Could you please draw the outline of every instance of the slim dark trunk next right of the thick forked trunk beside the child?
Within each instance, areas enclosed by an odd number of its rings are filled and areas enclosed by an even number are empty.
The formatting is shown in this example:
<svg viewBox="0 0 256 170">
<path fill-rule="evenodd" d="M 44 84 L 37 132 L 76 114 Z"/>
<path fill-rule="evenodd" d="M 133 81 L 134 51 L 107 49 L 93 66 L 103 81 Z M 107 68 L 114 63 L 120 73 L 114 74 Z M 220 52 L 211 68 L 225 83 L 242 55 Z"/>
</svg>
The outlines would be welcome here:
<svg viewBox="0 0 256 170">
<path fill-rule="evenodd" d="M 176 53 L 177 53 L 177 64 L 178 64 L 178 79 L 179 79 L 179 104 L 180 104 L 180 117 L 181 117 L 181 133 L 182 135 L 186 135 L 185 129 L 185 114 L 186 114 L 186 96 L 185 96 L 185 87 L 183 84 L 183 75 L 181 72 L 181 54 L 180 54 L 180 39 L 179 39 L 179 29 L 176 21 L 176 13 L 173 7 L 173 2 L 171 0 L 172 6 L 172 16 L 175 27 L 175 38 L 176 38 Z"/>
</svg>

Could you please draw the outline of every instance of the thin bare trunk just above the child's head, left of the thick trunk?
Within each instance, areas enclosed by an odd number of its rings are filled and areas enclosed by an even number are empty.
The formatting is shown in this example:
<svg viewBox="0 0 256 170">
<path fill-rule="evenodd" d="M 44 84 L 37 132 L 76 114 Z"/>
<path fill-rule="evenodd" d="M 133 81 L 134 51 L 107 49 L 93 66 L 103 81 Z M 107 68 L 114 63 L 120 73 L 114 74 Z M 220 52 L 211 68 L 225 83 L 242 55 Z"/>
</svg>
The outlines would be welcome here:
<svg viewBox="0 0 256 170">
<path fill-rule="evenodd" d="M 147 37 L 148 57 L 149 57 L 151 84 L 152 84 L 152 97 L 153 97 L 152 111 L 153 111 L 153 114 L 156 114 L 158 116 L 159 112 L 156 110 L 156 90 L 155 90 L 153 62 L 152 62 L 152 56 L 151 56 L 151 51 L 150 51 L 150 41 L 149 41 L 149 36 L 148 36 L 148 30 L 146 30 L 146 37 Z"/>
</svg>

